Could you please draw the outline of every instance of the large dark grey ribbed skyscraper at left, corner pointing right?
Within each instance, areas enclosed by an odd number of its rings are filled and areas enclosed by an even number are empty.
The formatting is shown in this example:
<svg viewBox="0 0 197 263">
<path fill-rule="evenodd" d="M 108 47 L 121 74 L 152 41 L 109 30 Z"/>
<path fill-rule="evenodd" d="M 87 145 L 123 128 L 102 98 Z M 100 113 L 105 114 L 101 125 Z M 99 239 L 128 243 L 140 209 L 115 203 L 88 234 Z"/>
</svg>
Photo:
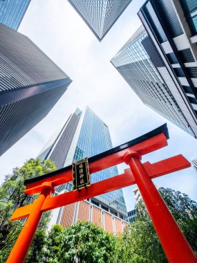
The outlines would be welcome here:
<svg viewBox="0 0 197 263">
<path fill-rule="evenodd" d="M 70 83 L 28 37 L 0 24 L 0 156 L 48 114 Z"/>
</svg>

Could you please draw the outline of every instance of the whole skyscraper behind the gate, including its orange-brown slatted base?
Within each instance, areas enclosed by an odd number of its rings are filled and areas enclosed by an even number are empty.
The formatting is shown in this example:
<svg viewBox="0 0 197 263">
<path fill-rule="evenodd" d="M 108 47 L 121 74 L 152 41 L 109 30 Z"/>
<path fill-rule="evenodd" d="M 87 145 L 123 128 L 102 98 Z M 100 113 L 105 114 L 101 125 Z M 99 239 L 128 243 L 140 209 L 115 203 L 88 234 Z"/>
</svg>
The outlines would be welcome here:
<svg viewBox="0 0 197 263">
<path fill-rule="evenodd" d="M 58 168 L 71 165 L 86 156 L 91 157 L 112 148 L 107 125 L 90 109 L 76 111 L 50 138 L 41 150 L 39 158 L 50 158 Z M 91 175 L 91 183 L 118 175 L 116 166 Z M 72 184 L 59 185 L 55 192 L 71 190 Z M 76 204 L 58 208 L 53 224 L 68 226 L 76 221 L 92 221 L 109 232 L 122 232 L 127 215 L 122 190 L 116 190 Z"/>
</svg>

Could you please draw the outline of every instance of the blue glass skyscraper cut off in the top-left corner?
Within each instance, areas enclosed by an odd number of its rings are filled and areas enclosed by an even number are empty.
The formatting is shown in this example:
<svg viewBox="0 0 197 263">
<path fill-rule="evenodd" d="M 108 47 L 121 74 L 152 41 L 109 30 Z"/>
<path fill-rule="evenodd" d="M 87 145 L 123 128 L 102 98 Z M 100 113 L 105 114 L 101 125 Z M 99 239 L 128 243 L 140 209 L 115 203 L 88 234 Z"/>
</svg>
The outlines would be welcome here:
<svg viewBox="0 0 197 263">
<path fill-rule="evenodd" d="M 1 0 L 0 23 L 17 30 L 29 6 L 30 0 Z"/>
</svg>

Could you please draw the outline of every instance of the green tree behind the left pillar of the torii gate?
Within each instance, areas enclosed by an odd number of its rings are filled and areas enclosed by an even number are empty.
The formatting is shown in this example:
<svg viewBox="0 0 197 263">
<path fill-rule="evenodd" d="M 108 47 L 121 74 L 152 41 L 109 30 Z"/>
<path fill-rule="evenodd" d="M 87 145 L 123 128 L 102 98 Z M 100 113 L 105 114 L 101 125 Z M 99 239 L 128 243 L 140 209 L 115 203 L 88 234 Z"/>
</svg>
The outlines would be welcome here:
<svg viewBox="0 0 197 263">
<path fill-rule="evenodd" d="M 5 176 L 5 180 L 0 188 L 0 260 L 5 260 L 10 253 L 10 249 L 21 231 L 23 220 L 11 222 L 12 212 L 20 206 L 26 206 L 37 197 L 29 196 L 24 192 L 24 180 L 35 176 L 41 176 L 55 170 L 55 164 L 50 161 L 41 161 L 39 158 L 30 159 L 23 167 L 16 167 L 12 174 Z M 39 228 L 45 228 L 49 219 L 49 213 L 44 213 Z"/>
</svg>

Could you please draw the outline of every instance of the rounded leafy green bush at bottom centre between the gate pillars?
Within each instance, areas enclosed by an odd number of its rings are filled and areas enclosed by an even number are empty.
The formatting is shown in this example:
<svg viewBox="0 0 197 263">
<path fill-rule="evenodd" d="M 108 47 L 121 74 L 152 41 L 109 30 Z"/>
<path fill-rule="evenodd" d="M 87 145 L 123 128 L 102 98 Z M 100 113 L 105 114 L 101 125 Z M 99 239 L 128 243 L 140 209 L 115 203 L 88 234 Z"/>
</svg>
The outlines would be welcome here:
<svg viewBox="0 0 197 263">
<path fill-rule="evenodd" d="M 48 262 L 112 263 L 115 237 L 90 222 L 77 222 L 64 230 L 55 226 L 48 235 L 48 251 Z"/>
</svg>

